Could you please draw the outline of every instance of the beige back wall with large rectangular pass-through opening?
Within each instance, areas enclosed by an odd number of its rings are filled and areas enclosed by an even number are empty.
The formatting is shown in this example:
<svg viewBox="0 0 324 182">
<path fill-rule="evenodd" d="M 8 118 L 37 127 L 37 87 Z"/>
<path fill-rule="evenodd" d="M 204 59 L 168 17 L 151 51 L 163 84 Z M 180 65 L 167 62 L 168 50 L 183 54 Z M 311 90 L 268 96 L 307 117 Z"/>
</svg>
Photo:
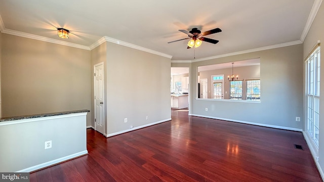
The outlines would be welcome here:
<svg viewBox="0 0 324 182">
<path fill-rule="evenodd" d="M 191 114 L 301 130 L 303 121 L 303 45 L 194 62 L 191 66 Z M 260 58 L 261 102 L 199 100 L 197 67 Z M 208 111 L 205 111 L 208 108 Z"/>
</svg>

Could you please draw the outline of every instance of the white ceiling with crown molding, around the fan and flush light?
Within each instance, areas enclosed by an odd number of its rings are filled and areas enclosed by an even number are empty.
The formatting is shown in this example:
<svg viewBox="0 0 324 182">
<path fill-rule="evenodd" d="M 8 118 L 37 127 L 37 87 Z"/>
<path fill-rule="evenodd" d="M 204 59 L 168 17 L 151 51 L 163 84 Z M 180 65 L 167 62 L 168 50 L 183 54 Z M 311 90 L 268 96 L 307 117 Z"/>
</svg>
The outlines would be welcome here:
<svg viewBox="0 0 324 182">
<path fill-rule="evenodd" d="M 301 43 L 320 0 L 178 0 L 80 1 L 1 0 L 0 29 L 90 47 L 104 36 L 172 56 L 172 60 L 204 59 L 277 44 Z M 313 7 L 314 5 L 314 7 Z M 309 18 L 310 17 L 310 18 Z M 309 18 L 309 19 L 308 19 Z M 69 39 L 56 28 L 71 31 Z M 179 29 L 222 32 L 207 35 L 219 40 L 186 49 Z"/>
</svg>

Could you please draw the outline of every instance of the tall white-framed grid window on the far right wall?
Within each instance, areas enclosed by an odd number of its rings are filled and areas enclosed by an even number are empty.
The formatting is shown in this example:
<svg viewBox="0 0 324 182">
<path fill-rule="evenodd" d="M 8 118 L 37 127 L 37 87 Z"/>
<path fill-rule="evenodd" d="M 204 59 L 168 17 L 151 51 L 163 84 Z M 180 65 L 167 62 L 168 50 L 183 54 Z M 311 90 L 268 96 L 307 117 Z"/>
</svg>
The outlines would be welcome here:
<svg viewBox="0 0 324 182">
<path fill-rule="evenodd" d="M 318 147 L 319 136 L 319 73 L 320 48 L 315 49 L 305 62 L 306 67 L 306 94 L 307 94 L 307 132 Z"/>
</svg>

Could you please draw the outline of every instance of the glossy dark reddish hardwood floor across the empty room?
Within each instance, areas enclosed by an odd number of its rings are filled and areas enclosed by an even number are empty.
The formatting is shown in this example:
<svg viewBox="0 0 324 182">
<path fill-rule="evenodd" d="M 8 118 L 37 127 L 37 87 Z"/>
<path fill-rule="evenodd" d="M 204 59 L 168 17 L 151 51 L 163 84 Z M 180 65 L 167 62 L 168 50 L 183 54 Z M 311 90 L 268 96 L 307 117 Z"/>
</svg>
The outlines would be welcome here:
<svg viewBox="0 0 324 182">
<path fill-rule="evenodd" d="M 87 129 L 87 149 L 30 181 L 321 181 L 301 132 L 176 110 L 172 121 L 111 138 Z"/>
</svg>

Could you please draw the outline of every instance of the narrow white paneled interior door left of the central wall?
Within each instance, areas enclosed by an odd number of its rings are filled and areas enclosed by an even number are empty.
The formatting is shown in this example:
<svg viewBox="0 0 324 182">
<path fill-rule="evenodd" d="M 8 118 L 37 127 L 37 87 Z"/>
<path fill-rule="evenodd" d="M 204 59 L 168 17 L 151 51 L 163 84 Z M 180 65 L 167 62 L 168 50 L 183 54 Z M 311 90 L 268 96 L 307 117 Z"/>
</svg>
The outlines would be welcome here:
<svg viewBox="0 0 324 182">
<path fill-rule="evenodd" d="M 104 69 L 103 63 L 94 66 L 95 84 L 95 130 L 104 134 Z"/>
</svg>

